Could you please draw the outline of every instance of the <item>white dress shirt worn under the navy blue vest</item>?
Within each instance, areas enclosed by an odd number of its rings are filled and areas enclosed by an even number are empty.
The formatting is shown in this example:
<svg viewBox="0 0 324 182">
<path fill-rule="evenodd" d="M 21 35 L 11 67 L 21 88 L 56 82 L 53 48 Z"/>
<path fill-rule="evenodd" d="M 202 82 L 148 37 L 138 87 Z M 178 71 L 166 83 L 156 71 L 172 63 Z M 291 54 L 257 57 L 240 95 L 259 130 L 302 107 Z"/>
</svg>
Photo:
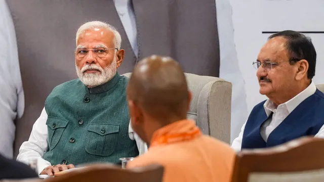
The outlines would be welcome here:
<svg viewBox="0 0 324 182">
<path fill-rule="evenodd" d="M 305 99 L 309 96 L 313 95 L 316 92 L 316 86 L 312 82 L 310 85 L 304 89 L 301 93 L 297 96 L 292 98 L 291 100 L 287 101 L 286 103 L 280 104 L 278 107 L 270 101 L 269 99 L 264 103 L 263 107 L 264 110 L 269 116 L 271 113 L 272 117 L 266 120 L 260 128 L 260 134 L 262 139 L 267 142 L 270 133 L 282 122 L 284 119 L 291 113 L 293 110 L 302 103 Z M 244 133 L 246 123 L 241 128 L 241 132 L 239 133 L 238 137 L 233 141 L 232 148 L 236 151 L 241 149 L 242 145 L 242 138 Z M 315 135 L 318 138 L 324 138 L 324 125 L 319 129 L 318 133 Z"/>
</svg>

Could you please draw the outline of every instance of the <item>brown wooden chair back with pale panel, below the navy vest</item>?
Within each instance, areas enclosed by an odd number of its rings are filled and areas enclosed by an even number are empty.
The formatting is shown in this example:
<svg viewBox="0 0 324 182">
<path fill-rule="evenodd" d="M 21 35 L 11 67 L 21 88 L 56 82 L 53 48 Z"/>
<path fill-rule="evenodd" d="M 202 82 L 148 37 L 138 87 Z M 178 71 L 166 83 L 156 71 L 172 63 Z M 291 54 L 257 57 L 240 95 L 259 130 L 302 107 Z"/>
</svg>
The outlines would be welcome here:
<svg viewBox="0 0 324 182">
<path fill-rule="evenodd" d="M 324 181 L 324 139 L 305 136 L 236 154 L 232 182 Z"/>
</svg>

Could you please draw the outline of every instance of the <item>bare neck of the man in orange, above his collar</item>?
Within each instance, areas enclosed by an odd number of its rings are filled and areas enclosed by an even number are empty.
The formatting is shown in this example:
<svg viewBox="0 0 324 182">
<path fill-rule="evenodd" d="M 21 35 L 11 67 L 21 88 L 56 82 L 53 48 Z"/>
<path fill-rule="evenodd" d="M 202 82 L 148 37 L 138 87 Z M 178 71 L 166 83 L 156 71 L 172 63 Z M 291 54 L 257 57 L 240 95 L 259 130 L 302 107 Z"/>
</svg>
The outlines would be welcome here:
<svg viewBox="0 0 324 182">
<path fill-rule="evenodd" d="M 169 117 L 168 119 L 157 119 L 157 118 L 148 118 L 147 121 L 145 121 L 146 123 L 151 123 L 148 126 L 148 129 L 146 132 L 146 143 L 149 144 L 152 140 L 152 136 L 154 134 L 154 132 L 160 128 L 163 128 L 166 125 L 172 124 L 174 122 L 180 121 L 180 120 L 184 120 L 187 119 L 187 116 L 173 116 L 173 117 Z"/>
</svg>

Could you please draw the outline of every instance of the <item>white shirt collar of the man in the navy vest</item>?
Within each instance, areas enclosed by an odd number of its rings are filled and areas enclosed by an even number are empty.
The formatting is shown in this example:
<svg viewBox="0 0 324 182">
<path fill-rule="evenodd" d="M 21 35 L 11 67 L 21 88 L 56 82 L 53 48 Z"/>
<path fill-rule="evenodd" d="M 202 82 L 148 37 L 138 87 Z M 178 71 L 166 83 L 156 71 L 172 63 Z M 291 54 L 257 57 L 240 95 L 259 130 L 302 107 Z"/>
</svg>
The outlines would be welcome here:
<svg viewBox="0 0 324 182">
<path fill-rule="evenodd" d="M 316 86 L 313 82 L 311 82 L 307 86 L 307 88 L 305 88 L 301 93 L 299 93 L 297 96 L 295 96 L 291 100 L 289 100 L 283 104 L 280 104 L 279 106 L 286 106 L 288 112 L 291 113 L 300 103 L 302 103 L 309 96 L 313 95 L 315 92 L 316 92 Z M 277 108 L 275 106 L 275 104 L 272 101 L 270 101 L 269 99 L 264 103 L 263 107 L 264 107 L 264 110 L 265 110 L 267 116 L 269 116 Z"/>
</svg>

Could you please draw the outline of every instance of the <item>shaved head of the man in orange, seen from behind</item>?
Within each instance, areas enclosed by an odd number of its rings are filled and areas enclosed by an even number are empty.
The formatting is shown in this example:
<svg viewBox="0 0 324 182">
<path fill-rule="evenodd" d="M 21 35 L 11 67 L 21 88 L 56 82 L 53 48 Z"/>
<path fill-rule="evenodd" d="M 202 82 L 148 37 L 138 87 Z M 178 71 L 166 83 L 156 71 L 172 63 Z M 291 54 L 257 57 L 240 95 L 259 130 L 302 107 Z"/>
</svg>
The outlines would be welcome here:
<svg viewBox="0 0 324 182">
<path fill-rule="evenodd" d="M 170 57 L 156 55 L 136 65 L 127 95 L 144 112 L 161 119 L 186 117 L 190 102 L 186 78 L 180 65 Z"/>
</svg>

